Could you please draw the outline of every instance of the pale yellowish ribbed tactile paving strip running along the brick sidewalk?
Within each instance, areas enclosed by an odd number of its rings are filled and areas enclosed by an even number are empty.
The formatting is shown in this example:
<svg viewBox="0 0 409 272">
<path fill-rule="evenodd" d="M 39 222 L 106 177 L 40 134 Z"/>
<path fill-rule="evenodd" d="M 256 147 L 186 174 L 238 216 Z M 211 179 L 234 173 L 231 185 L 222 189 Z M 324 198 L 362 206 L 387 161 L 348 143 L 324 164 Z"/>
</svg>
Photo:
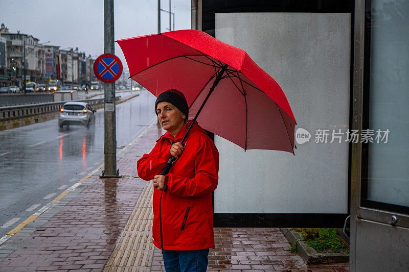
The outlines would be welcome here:
<svg viewBox="0 0 409 272">
<path fill-rule="evenodd" d="M 154 250 L 152 243 L 152 194 L 153 186 L 148 182 L 125 225 L 104 272 L 151 270 Z"/>
</svg>

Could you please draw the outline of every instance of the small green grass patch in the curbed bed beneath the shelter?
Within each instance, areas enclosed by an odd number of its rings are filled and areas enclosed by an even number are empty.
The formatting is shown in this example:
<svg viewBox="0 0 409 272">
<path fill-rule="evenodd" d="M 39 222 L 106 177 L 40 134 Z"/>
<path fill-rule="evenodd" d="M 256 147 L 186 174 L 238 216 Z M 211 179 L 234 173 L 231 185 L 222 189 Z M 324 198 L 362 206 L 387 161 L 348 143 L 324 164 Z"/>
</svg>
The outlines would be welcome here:
<svg viewBox="0 0 409 272">
<path fill-rule="evenodd" d="M 336 237 L 336 229 L 297 228 L 294 231 L 300 232 L 303 241 L 316 252 L 349 254 L 348 247 Z"/>
</svg>

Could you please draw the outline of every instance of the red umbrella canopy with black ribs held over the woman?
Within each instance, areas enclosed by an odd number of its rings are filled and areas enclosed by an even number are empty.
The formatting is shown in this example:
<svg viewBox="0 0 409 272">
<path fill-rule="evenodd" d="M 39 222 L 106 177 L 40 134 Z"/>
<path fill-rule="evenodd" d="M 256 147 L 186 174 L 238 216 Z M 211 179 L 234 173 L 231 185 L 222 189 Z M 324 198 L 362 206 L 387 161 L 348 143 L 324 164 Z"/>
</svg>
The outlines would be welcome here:
<svg viewBox="0 0 409 272">
<path fill-rule="evenodd" d="M 130 78 L 155 96 L 170 88 L 182 91 L 190 119 L 217 84 L 197 117 L 202 128 L 244 150 L 294 154 L 296 119 L 287 98 L 278 83 L 244 50 L 198 30 L 117 42 L 128 63 Z"/>
</svg>

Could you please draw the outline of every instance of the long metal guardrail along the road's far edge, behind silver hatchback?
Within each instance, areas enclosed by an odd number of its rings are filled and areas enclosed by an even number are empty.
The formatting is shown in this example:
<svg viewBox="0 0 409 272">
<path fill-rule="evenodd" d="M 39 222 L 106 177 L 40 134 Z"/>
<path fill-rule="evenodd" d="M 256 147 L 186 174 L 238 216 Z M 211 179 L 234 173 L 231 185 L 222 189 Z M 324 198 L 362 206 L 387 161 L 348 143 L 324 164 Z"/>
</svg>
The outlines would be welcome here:
<svg viewBox="0 0 409 272">
<path fill-rule="evenodd" d="M 117 96 L 116 100 L 121 98 Z M 0 107 L 0 120 L 9 120 L 27 117 L 36 114 L 57 112 L 61 109 L 62 105 L 67 102 L 86 102 L 89 105 L 103 104 L 104 98 L 94 98 L 94 99 L 84 99 L 84 100 L 73 100 L 73 101 L 59 101 L 59 102 L 45 102 L 38 104 L 26 104 L 26 105 L 15 105 L 15 106 L 2 106 Z"/>
</svg>

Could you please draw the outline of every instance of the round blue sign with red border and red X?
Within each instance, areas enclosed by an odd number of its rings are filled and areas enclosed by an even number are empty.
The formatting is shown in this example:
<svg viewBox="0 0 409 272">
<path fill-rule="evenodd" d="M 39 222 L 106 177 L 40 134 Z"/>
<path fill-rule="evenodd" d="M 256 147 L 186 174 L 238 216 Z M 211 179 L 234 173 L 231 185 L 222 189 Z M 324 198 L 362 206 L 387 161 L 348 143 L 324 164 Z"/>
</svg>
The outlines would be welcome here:
<svg viewBox="0 0 409 272">
<path fill-rule="evenodd" d="M 94 62 L 94 73 L 102 82 L 114 82 L 121 77 L 122 62 L 113 54 L 102 54 Z"/>
</svg>

